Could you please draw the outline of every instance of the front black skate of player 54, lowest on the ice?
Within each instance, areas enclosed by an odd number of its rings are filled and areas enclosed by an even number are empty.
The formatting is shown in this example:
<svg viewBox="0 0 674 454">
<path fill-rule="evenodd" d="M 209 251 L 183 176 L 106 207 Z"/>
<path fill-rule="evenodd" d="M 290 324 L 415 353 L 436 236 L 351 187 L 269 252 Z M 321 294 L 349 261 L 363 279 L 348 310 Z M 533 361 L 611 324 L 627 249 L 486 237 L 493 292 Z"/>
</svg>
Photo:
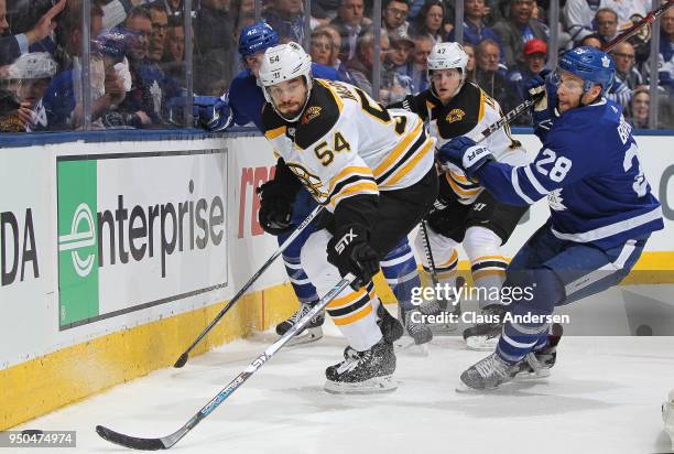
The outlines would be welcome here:
<svg viewBox="0 0 674 454">
<path fill-rule="evenodd" d="M 365 352 L 345 350 L 344 361 L 325 370 L 325 390 L 335 394 L 369 394 L 395 390 L 395 354 L 383 338 Z"/>
</svg>

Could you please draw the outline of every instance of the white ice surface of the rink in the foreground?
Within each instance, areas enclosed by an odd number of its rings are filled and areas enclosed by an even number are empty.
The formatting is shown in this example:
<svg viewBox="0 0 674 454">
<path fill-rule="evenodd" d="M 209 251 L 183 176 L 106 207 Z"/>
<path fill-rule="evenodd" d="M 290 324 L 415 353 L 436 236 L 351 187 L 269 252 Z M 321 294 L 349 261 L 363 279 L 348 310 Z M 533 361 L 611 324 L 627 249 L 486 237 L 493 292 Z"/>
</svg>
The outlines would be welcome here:
<svg viewBox="0 0 674 454">
<path fill-rule="evenodd" d="M 660 406 L 674 388 L 674 337 L 565 336 L 550 378 L 488 394 L 455 391 L 486 356 L 460 337 L 398 356 L 395 392 L 333 396 L 324 370 L 346 346 L 330 322 L 282 349 L 171 451 L 182 453 L 664 453 Z M 139 436 L 177 430 L 275 336 L 263 333 L 118 386 L 18 429 L 76 430 L 78 453 L 126 451 L 96 424 Z M 39 453 L 42 450 L 30 450 Z M 54 453 L 48 450 L 45 452 Z M 66 452 L 66 450 L 57 450 Z"/>
</svg>

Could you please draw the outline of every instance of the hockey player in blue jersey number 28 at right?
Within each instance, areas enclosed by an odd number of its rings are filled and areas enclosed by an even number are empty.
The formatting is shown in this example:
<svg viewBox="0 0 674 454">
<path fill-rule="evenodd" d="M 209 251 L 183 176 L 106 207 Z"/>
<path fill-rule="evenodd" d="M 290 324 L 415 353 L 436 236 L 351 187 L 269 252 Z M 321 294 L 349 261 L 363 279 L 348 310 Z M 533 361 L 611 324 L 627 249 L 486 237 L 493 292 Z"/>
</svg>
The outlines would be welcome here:
<svg viewBox="0 0 674 454">
<path fill-rule="evenodd" d="M 618 284 L 650 235 L 663 228 L 631 127 L 605 97 L 615 73 L 607 54 L 583 46 L 564 54 L 546 82 L 532 85 L 543 148 L 529 165 L 496 162 L 467 138 L 439 151 L 442 161 L 465 169 L 498 201 L 531 205 L 547 196 L 551 208 L 508 268 L 504 287 L 524 296 L 512 298 L 502 314 L 496 352 L 461 375 L 469 388 L 494 389 L 520 372 L 547 375 L 556 358 L 548 344 L 555 306 Z"/>
</svg>

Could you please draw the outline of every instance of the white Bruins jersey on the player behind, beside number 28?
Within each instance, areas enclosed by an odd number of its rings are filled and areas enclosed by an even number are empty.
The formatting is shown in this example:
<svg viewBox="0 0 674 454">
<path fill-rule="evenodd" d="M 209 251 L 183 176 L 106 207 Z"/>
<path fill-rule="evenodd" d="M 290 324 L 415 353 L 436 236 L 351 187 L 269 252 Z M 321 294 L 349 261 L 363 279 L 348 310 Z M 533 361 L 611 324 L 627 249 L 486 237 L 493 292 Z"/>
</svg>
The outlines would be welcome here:
<svg viewBox="0 0 674 454">
<path fill-rule="evenodd" d="M 458 136 L 479 140 L 481 132 L 503 116 L 498 101 L 472 83 L 466 83 L 446 106 L 443 106 L 431 90 L 418 96 L 422 99 L 417 99 L 416 104 L 420 108 L 425 106 L 426 111 L 422 116 L 428 121 L 428 133 L 436 139 L 438 149 Z M 489 148 L 497 161 L 511 165 L 529 163 L 525 150 L 512 138 L 508 125 L 493 132 L 482 143 Z M 458 201 L 465 205 L 474 203 L 483 191 L 483 187 L 468 180 L 464 171 L 455 165 L 449 165 L 445 179 Z"/>
</svg>

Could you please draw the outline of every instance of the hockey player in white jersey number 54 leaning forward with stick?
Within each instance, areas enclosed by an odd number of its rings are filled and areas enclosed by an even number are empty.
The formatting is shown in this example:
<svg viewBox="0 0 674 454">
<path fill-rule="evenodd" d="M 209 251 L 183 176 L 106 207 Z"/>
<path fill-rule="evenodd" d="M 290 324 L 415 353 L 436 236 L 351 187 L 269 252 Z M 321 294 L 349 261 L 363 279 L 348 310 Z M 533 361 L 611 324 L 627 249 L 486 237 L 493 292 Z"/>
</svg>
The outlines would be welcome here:
<svg viewBox="0 0 674 454">
<path fill-rule="evenodd" d="M 318 294 L 349 272 L 357 277 L 327 306 L 349 347 L 327 368 L 326 389 L 394 389 L 395 355 L 377 325 L 371 279 L 433 206 L 434 141 L 415 114 L 389 112 L 359 88 L 313 79 L 309 67 L 311 57 L 291 42 L 267 50 L 259 77 L 264 136 L 280 156 L 274 181 L 291 194 L 304 185 L 327 208 L 302 266 Z"/>
</svg>

